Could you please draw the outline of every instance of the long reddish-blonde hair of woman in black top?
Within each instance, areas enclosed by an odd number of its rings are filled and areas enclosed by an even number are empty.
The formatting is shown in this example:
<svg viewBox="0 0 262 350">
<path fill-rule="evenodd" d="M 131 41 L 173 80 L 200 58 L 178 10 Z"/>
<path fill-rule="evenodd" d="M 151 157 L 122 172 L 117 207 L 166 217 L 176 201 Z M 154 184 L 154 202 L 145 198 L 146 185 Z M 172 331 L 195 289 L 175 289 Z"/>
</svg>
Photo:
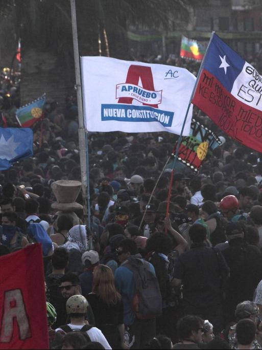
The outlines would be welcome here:
<svg viewBox="0 0 262 350">
<path fill-rule="evenodd" d="M 93 293 L 96 293 L 107 304 L 116 304 L 121 295 L 115 289 L 114 275 L 106 265 L 98 265 L 93 270 Z"/>
</svg>

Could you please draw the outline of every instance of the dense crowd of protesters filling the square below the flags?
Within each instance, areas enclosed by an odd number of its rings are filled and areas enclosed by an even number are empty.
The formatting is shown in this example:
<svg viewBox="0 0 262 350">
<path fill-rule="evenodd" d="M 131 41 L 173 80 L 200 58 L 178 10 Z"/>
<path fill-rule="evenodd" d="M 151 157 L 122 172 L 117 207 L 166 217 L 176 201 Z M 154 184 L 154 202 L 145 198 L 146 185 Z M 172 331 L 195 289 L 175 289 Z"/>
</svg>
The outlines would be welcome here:
<svg viewBox="0 0 262 350">
<path fill-rule="evenodd" d="M 50 348 L 261 348 L 262 155 L 195 118 L 226 142 L 198 174 L 176 163 L 170 203 L 177 136 L 115 132 L 88 134 L 90 223 L 81 192 L 57 206 L 81 182 L 72 96 L 0 172 L 0 255 L 42 244 Z"/>
</svg>

